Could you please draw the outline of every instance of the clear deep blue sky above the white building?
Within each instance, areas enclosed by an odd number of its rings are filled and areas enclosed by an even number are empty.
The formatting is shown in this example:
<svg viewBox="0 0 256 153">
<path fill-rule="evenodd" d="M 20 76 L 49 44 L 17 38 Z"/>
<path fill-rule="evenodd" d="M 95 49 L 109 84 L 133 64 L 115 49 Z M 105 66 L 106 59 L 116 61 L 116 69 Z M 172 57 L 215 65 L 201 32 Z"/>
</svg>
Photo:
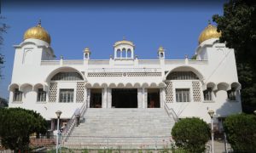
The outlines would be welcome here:
<svg viewBox="0 0 256 153">
<path fill-rule="evenodd" d="M 61 3 L 60 3 L 61 2 Z M 1 53 L 5 56 L 0 80 L 0 97 L 9 98 L 8 85 L 15 48 L 24 32 L 42 26 L 49 32 L 56 59 L 83 59 L 89 47 L 91 59 L 109 59 L 113 43 L 134 42 L 138 59 L 157 59 L 157 49 L 166 48 L 166 59 L 184 59 L 195 54 L 198 37 L 212 20 L 223 14 L 224 1 L 12 1 L 1 3 L 1 15 L 10 26 L 4 34 Z"/>
</svg>

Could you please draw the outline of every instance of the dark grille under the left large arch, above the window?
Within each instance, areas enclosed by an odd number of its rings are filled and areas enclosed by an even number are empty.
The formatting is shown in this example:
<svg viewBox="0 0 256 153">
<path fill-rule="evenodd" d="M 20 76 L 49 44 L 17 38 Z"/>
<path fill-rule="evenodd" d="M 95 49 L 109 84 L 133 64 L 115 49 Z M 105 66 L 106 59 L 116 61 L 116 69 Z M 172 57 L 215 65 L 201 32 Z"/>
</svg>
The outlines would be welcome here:
<svg viewBox="0 0 256 153">
<path fill-rule="evenodd" d="M 75 81 L 84 80 L 78 72 L 59 72 L 51 79 L 52 81 Z"/>
</svg>

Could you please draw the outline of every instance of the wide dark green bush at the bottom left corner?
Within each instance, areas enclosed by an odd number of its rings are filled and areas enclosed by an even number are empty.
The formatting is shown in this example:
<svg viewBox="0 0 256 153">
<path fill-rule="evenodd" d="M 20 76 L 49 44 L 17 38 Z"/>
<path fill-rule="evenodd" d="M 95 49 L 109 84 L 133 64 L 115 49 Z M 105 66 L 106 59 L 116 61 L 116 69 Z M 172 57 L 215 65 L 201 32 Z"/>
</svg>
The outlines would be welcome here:
<svg viewBox="0 0 256 153">
<path fill-rule="evenodd" d="M 39 113 L 22 108 L 0 108 L 0 137 L 5 148 L 29 149 L 32 133 L 46 133 L 47 122 Z"/>
</svg>

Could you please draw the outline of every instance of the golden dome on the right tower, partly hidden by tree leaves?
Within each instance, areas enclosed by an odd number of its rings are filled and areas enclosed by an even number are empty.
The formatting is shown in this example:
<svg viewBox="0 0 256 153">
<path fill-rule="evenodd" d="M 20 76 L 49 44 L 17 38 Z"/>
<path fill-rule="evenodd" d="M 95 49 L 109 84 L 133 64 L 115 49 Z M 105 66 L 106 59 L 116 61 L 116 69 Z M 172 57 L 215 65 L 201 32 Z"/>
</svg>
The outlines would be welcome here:
<svg viewBox="0 0 256 153">
<path fill-rule="evenodd" d="M 201 42 L 204 42 L 208 39 L 219 37 L 221 37 L 221 31 L 218 32 L 217 27 L 209 23 L 208 26 L 203 31 L 201 31 L 200 37 L 198 38 L 198 42 L 200 44 Z"/>
</svg>

